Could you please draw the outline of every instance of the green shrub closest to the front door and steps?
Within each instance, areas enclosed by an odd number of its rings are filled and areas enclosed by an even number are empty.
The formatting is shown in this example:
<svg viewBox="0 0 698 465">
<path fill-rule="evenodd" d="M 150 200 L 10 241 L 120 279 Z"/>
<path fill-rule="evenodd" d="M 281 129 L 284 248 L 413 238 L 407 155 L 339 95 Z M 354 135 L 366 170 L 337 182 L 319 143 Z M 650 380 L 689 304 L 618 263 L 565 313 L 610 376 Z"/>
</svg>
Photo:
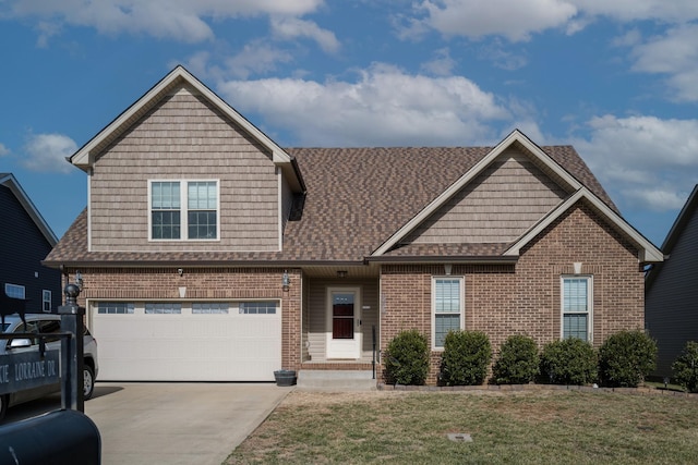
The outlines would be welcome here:
<svg viewBox="0 0 698 465">
<path fill-rule="evenodd" d="M 424 384 L 429 375 L 429 341 L 418 330 L 400 331 L 384 353 L 387 382 Z"/>
</svg>

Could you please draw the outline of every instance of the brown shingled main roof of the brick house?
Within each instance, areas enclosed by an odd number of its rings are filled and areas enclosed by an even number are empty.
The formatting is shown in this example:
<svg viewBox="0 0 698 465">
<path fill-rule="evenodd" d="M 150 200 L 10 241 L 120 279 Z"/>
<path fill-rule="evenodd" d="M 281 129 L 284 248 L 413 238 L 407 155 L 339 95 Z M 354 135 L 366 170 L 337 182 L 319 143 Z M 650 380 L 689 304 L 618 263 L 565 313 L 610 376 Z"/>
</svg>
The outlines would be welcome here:
<svg viewBox="0 0 698 465">
<path fill-rule="evenodd" d="M 581 158 L 569 146 L 541 147 L 553 160 L 617 211 L 606 193 Z M 47 261 L 60 264 L 139 261 L 160 262 L 204 260 L 206 262 L 363 262 L 363 259 L 386 241 L 395 231 L 433 201 L 449 185 L 470 170 L 492 150 L 491 147 L 424 147 L 424 148 L 293 148 L 293 156 L 308 188 L 300 218 L 288 221 L 284 229 L 282 249 L 244 250 L 192 247 L 158 248 L 144 244 L 137 250 L 127 249 L 88 252 L 85 220 L 79 218 L 51 252 Z M 164 154 L 165 156 L 166 154 Z M 513 157 L 514 160 L 519 156 Z M 151 160 L 149 162 L 154 162 Z M 519 161 L 516 161 L 519 163 Z M 533 172 L 533 167 L 528 167 Z M 96 175 L 95 175 L 96 176 Z M 535 175 L 532 175 L 537 179 Z M 540 176 L 539 176 L 540 178 Z M 95 180 L 93 179 L 93 183 Z M 145 181 L 142 184 L 146 184 Z M 221 180 L 221 200 L 226 195 Z M 559 191 L 559 187 L 557 187 Z M 558 195 L 558 194 L 556 194 Z M 547 200 L 550 201 L 550 200 Z M 147 224 L 147 195 L 141 199 L 139 212 Z M 93 199 L 93 210 L 96 208 Z M 115 205 L 113 208 L 117 208 Z M 222 211 L 221 217 L 226 213 Z M 222 220 L 221 220 L 222 221 Z M 147 238 L 147 227 L 140 227 Z M 94 225 L 93 225 L 94 228 Z M 221 224 L 220 235 L 229 234 Z M 221 237 L 221 240 L 222 240 Z M 481 237 L 482 240 L 486 237 Z M 501 241 L 496 237 L 496 241 Z M 146 242 L 143 237 L 142 242 Z M 453 246 L 443 250 L 461 255 L 464 250 L 474 256 L 501 255 L 503 244 L 482 241 L 492 246 Z M 453 243 L 453 240 L 448 240 Z M 466 243 L 473 241 L 464 241 Z M 203 243 L 205 244 L 205 243 Z M 190 244 L 191 245 L 191 244 Z M 156 243 L 156 247 L 160 247 Z M 413 246 L 410 246 L 413 247 Z M 93 246 L 94 248 L 94 246 Z M 424 245 L 422 252 L 433 250 Z M 414 248 L 412 248 L 414 249 Z M 201 250 L 201 252 L 200 252 Z M 400 254 L 399 248 L 389 254 Z M 417 248 L 414 250 L 420 250 Z M 449 252 L 450 255 L 450 252 Z"/>
</svg>

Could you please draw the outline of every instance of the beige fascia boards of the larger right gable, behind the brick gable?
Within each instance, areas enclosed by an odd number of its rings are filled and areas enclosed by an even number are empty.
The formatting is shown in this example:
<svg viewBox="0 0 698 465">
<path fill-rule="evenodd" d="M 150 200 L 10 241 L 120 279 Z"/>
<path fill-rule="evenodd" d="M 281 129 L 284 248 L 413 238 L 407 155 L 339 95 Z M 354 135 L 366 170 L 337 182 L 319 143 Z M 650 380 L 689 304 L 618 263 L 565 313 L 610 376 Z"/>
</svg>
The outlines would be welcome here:
<svg viewBox="0 0 698 465">
<path fill-rule="evenodd" d="M 538 145 L 533 144 L 524 133 L 519 130 L 514 130 L 508 136 L 496 145 L 486 156 L 478 161 L 467 173 L 453 183 L 446 191 L 441 193 L 432 203 L 430 203 L 422 211 L 417 213 L 411 220 L 409 220 L 402 228 L 394 233 L 386 242 L 384 242 L 373 254 L 374 256 L 381 256 L 395 246 L 400 240 L 412 232 L 419 224 L 432 216 L 438 208 L 448 201 L 458 191 L 465 187 L 477 175 L 484 171 L 494 159 L 508 149 L 514 143 L 521 144 L 530 154 L 542 161 L 547 168 L 554 171 L 566 183 L 569 184 L 573 191 L 579 189 L 582 185 L 565 169 L 563 169 L 557 162 L 555 162 L 547 154 L 543 151 Z"/>
</svg>

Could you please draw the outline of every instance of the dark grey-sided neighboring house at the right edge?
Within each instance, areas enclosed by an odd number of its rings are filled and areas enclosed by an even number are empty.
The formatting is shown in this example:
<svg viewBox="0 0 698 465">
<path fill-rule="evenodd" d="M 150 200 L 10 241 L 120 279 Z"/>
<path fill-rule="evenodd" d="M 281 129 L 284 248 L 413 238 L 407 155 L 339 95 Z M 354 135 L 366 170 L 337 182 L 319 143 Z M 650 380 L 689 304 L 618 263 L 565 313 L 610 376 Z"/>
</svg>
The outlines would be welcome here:
<svg viewBox="0 0 698 465">
<path fill-rule="evenodd" d="M 698 184 L 669 231 L 646 280 L 645 325 L 659 347 L 654 375 L 671 377 L 686 342 L 698 341 Z"/>
</svg>

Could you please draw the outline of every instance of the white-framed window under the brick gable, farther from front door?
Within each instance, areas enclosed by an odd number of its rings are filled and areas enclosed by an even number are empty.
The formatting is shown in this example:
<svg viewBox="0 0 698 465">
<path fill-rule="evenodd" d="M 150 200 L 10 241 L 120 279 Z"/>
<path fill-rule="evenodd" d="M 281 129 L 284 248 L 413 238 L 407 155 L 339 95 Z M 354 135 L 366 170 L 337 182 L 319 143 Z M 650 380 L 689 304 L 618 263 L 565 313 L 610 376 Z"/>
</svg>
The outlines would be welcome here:
<svg viewBox="0 0 698 465">
<path fill-rule="evenodd" d="M 562 277 L 562 338 L 592 340 L 591 277 Z"/>
</svg>

